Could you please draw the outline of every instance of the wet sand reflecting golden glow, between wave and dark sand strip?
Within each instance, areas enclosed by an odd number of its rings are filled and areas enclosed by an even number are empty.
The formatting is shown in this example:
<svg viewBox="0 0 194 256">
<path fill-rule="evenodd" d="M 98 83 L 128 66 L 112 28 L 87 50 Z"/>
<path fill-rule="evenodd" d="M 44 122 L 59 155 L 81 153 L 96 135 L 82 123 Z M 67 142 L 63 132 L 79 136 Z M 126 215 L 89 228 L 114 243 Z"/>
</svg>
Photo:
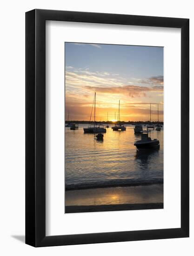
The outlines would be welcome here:
<svg viewBox="0 0 194 256">
<path fill-rule="evenodd" d="M 66 205 L 163 202 L 163 185 L 66 191 Z"/>
</svg>

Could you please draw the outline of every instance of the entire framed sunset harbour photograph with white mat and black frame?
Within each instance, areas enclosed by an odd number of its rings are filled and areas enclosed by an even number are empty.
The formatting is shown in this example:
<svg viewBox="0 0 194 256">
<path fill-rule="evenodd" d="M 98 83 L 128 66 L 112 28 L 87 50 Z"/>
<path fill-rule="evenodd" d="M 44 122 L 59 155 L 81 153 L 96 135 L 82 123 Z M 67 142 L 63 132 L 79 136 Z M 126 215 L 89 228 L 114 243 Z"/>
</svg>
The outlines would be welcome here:
<svg viewBox="0 0 194 256">
<path fill-rule="evenodd" d="M 26 243 L 189 236 L 189 20 L 26 13 Z"/>
</svg>

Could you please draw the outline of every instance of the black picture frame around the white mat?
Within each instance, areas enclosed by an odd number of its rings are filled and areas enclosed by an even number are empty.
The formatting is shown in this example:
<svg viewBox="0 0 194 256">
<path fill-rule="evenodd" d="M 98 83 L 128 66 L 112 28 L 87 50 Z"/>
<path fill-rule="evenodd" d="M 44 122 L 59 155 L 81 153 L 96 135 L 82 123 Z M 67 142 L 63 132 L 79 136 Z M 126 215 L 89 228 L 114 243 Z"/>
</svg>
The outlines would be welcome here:
<svg viewBox="0 0 194 256">
<path fill-rule="evenodd" d="M 46 236 L 46 20 L 181 28 L 181 228 Z M 34 247 L 189 236 L 189 19 L 34 9 L 26 13 L 26 243 Z"/>
</svg>

